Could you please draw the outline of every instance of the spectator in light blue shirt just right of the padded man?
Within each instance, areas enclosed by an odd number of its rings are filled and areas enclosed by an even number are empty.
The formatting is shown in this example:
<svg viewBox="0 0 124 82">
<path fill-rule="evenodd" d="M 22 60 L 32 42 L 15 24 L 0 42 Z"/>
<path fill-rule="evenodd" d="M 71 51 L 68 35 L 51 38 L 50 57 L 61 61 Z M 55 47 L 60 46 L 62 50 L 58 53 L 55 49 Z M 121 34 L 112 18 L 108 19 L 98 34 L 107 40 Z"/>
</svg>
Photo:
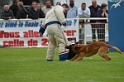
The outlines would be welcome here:
<svg viewBox="0 0 124 82">
<path fill-rule="evenodd" d="M 78 15 L 78 8 L 74 5 L 74 0 L 70 0 L 69 11 L 67 13 L 67 18 L 76 18 Z"/>
</svg>

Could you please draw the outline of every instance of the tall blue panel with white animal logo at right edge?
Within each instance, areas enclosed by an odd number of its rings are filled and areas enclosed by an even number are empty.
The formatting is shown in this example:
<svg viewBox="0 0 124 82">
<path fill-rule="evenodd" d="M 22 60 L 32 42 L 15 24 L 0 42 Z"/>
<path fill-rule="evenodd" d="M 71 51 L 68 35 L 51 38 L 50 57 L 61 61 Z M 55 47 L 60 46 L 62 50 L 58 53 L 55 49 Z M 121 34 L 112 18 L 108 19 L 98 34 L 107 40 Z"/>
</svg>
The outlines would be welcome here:
<svg viewBox="0 0 124 82">
<path fill-rule="evenodd" d="M 124 0 L 108 0 L 108 6 L 109 44 L 124 51 Z"/>
</svg>

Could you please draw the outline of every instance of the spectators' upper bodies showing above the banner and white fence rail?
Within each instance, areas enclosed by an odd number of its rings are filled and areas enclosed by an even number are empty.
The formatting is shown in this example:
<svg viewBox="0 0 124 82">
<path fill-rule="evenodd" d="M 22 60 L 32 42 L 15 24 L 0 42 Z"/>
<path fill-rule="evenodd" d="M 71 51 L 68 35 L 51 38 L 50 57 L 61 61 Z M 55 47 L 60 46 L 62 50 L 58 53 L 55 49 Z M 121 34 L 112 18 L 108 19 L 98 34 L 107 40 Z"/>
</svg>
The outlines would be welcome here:
<svg viewBox="0 0 124 82">
<path fill-rule="evenodd" d="M 108 17 L 107 4 L 102 3 L 101 5 L 97 4 L 96 0 L 92 0 L 91 6 L 87 7 L 87 4 L 83 2 L 81 7 L 78 8 L 75 5 L 74 0 L 69 0 L 69 4 L 61 4 L 56 2 L 56 5 L 60 5 L 64 8 L 64 15 L 66 18 L 76 18 L 76 17 Z M 42 6 L 40 3 L 33 1 L 31 7 L 26 9 L 23 2 L 19 0 L 13 0 L 11 6 L 4 5 L 3 10 L 0 10 L 1 19 L 39 19 L 44 18 L 46 13 L 52 9 L 52 3 L 50 0 L 46 0 L 45 6 Z M 0 8 L 1 9 L 1 8 Z M 95 22 L 95 21 L 91 21 Z"/>
</svg>

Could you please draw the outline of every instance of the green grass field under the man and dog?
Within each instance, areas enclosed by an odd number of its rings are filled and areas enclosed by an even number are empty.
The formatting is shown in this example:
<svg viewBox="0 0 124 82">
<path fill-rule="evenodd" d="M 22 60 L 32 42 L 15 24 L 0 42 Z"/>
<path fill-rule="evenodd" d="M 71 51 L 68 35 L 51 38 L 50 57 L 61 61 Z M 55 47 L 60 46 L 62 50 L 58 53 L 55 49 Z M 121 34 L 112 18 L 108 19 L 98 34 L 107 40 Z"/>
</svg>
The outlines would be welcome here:
<svg viewBox="0 0 124 82">
<path fill-rule="evenodd" d="M 124 53 L 47 62 L 46 48 L 0 48 L 0 82 L 124 82 Z"/>
</svg>

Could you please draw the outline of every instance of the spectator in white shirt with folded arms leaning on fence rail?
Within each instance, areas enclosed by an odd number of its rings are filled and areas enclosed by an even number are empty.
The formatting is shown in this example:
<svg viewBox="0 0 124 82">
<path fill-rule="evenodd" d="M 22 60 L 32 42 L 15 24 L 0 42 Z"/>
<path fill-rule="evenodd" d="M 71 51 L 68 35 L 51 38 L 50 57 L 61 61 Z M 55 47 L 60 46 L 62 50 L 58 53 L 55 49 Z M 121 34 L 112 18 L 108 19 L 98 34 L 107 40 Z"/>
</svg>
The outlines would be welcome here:
<svg viewBox="0 0 124 82">
<path fill-rule="evenodd" d="M 90 17 L 90 9 L 86 7 L 86 3 L 82 3 L 81 8 L 78 9 L 79 17 Z"/>
</svg>

